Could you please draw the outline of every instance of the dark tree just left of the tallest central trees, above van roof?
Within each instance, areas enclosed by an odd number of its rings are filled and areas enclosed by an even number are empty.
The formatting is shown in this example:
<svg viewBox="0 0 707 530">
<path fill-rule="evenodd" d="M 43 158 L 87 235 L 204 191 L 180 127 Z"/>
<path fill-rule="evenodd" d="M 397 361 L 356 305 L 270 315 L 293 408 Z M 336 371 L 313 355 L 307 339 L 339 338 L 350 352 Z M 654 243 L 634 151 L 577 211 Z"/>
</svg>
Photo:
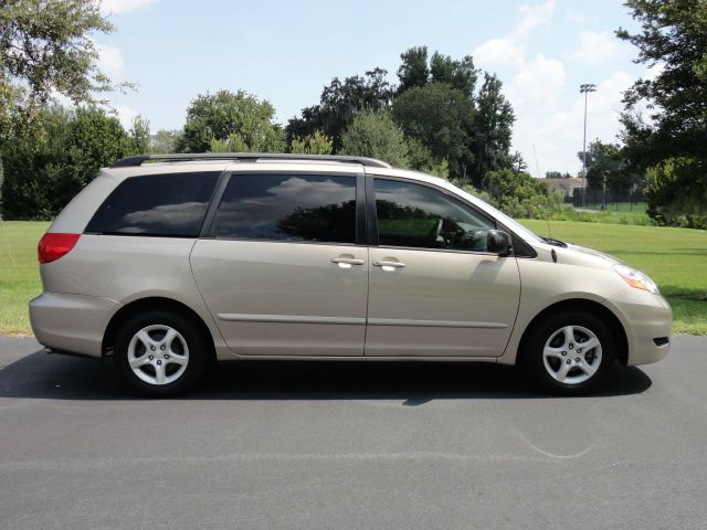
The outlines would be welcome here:
<svg viewBox="0 0 707 530">
<path fill-rule="evenodd" d="M 373 68 L 363 76 L 354 75 L 341 82 L 338 77 L 324 87 L 319 105 L 304 108 L 300 118 L 287 124 L 287 138 L 306 138 L 317 130 L 331 138 L 333 152 L 341 148 L 341 134 L 351 125 L 360 110 L 383 110 L 390 106 L 392 89 L 386 76 L 388 72 Z"/>
</svg>

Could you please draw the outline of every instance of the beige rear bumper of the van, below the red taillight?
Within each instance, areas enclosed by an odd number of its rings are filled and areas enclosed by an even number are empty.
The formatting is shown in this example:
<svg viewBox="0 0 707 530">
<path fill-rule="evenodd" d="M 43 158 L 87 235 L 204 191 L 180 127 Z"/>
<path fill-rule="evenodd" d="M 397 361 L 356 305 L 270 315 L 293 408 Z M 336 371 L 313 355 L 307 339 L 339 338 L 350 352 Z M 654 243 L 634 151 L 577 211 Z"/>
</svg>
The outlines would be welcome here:
<svg viewBox="0 0 707 530">
<path fill-rule="evenodd" d="M 56 352 L 103 356 L 103 335 L 120 304 L 97 296 L 43 293 L 30 301 L 36 340 Z"/>
</svg>

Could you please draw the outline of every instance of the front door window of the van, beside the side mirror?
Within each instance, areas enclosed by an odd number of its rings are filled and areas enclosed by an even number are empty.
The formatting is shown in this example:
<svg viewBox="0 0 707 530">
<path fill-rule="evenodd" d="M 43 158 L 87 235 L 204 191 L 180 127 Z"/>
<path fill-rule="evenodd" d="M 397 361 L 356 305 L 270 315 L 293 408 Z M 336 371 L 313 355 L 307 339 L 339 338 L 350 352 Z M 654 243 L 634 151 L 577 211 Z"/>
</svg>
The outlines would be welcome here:
<svg viewBox="0 0 707 530">
<path fill-rule="evenodd" d="M 486 251 L 493 221 L 426 186 L 374 180 L 381 245 Z"/>
</svg>

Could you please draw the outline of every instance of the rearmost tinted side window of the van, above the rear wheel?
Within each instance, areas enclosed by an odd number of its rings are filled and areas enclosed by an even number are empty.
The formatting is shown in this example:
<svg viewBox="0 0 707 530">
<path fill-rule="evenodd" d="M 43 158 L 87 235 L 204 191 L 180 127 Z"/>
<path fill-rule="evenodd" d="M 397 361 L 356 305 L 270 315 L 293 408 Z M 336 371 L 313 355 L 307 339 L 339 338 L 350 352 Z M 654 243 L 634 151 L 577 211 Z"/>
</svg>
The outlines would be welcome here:
<svg viewBox="0 0 707 530">
<path fill-rule="evenodd" d="M 196 237 L 219 172 L 149 174 L 119 184 L 86 232 Z"/>
</svg>

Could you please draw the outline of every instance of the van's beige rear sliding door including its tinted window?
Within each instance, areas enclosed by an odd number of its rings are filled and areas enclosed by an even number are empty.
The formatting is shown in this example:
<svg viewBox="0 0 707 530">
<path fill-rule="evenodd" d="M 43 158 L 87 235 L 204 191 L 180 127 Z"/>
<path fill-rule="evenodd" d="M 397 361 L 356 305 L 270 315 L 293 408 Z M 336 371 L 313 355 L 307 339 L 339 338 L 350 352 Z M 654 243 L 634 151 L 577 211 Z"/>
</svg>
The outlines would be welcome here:
<svg viewBox="0 0 707 530">
<path fill-rule="evenodd" d="M 357 176 L 234 173 L 191 266 L 242 356 L 362 356 L 368 248 Z"/>
</svg>

